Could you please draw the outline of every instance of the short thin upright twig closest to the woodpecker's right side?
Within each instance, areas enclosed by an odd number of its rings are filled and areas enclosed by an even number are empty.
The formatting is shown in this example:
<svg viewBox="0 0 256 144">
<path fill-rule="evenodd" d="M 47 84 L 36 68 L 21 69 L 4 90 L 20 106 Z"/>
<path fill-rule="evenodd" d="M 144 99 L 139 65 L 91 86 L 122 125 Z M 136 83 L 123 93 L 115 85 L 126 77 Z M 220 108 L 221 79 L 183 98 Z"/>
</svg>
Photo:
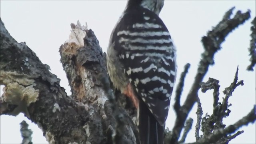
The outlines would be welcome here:
<svg viewBox="0 0 256 144">
<path fill-rule="evenodd" d="M 185 77 L 186 77 L 186 74 L 188 73 L 189 68 L 190 68 L 190 64 L 186 64 L 184 66 L 184 71 L 181 73 L 180 81 L 176 88 L 175 103 L 174 103 L 174 110 L 176 112 L 176 115 L 178 115 L 178 112 L 180 110 L 180 96 L 182 94 Z"/>
</svg>

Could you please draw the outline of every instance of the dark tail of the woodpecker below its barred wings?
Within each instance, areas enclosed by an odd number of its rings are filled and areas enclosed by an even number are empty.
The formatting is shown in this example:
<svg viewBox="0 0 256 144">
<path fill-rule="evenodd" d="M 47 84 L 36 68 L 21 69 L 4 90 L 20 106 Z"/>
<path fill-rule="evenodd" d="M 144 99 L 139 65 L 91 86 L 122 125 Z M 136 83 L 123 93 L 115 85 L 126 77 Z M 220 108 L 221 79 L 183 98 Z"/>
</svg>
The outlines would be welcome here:
<svg viewBox="0 0 256 144">
<path fill-rule="evenodd" d="M 161 126 L 142 100 L 139 104 L 139 134 L 141 144 L 163 144 L 164 126 Z"/>
</svg>

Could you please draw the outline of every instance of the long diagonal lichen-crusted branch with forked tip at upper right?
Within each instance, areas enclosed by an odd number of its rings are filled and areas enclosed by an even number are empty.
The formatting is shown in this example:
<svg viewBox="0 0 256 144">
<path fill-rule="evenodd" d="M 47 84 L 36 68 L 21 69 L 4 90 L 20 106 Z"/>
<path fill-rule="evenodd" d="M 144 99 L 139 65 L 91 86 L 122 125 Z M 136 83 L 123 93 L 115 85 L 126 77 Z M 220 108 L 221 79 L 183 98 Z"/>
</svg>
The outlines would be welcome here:
<svg viewBox="0 0 256 144">
<path fill-rule="evenodd" d="M 184 127 L 184 123 L 188 116 L 188 113 L 192 109 L 194 103 L 198 97 L 198 90 L 200 83 L 202 82 L 208 67 L 214 64 L 214 54 L 220 50 L 220 45 L 224 42 L 226 36 L 230 34 L 235 28 L 243 24 L 250 18 L 250 12 L 241 13 L 238 11 L 234 18 L 230 18 L 234 8 L 230 9 L 224 15 L 222 21 L 211 31 L 207 33 L 207 36 L 202 38 L 202 44 L 204 46 L 204 52 L 202 53 L 202 59 L 199 62 L 197 74 L 195 76 L 194 83 L 190 89 L 190 92 L 179 110 L 177 115 L 174 128 L 172 130 L 172 138 L 170 143 L 177 143 L 180 137 L 180 132 Z"/>
</svg>

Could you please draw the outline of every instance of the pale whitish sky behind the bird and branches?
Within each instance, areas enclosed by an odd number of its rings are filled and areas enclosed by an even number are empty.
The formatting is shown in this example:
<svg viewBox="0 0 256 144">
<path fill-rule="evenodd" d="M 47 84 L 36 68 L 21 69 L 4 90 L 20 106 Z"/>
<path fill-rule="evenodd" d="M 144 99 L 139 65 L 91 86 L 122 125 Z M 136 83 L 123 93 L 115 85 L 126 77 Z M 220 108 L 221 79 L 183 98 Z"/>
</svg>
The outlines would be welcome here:
<svg viewBox="0 0 256 144">
<path fill-rule="evenodd" d="M 71 94 L 68 86 L 66 74 L 60 63 L 59 48 L 70 34 L 70 23 L 81 24 L 87 22 L 96 34 L 102 50 L 106 52 L 110 33 L 116 24 L 126 5 L 125 0 L 115 1 L 2 1 L 0 4 L 0 17 L 11 36 L 18 42 L 26 42 L 42 63 L 48 64 L 51 72 L 61 79 L 60 86 L 66 89 L 67 94 Z M 214 57 L 215 65 L 210 66 L 204 82 L 209 77 L 220 80 L 220 100 L 224 94 L 222 91 L 229 86 L 234 79 L 236 67 L 239 65 L 238 79 L 244 80 L 244 86 L 239 86 L 229 98 L 232 103 L 231 113 L 223 122 L 227 126 L 234 124 L 237 120 L 245 116 L 256 103 L 255 71 L 248 72 L 246 67 L 249 64 L 249 40 L 250 22 L 255 17 L 256 1 L 165 1 L 164 8 L 160 13 L 160 18 L 166 24 L 174 44 L 177 47 L 178 76 L 184 69 L 186 63 L 191 67 L 186 77 L 185 88 L 182 94 L 183 103 L 190 86 L 194 80 L 200 54 L 203 52 L 201 44 L 202 36 L 206 35 L 212 26 L 216 26 L 222 19 L 224 13 L 236 6 L 237 10 L 251 10 L 251 19 L 238 29 L 234 30 L 222 44 L 220 50 Z M 254 67 L 255 69 L 255 67 Z M 1 86 L 1 95 L 2 95 Z M 175 92 L 175 90 L 174 90 Z M 203 108 L 203 116 L 206 112 L 212 114 L 213 90 L 203 94 L 199 92 Z M 171 103 L 174 102 L 172 96 Z M 193 128 L 186 138 L 186 142 L 194 142 L 196 125 L 196 104 L 190 112 L 189 117 L 194 119 Z M 22 142 L 20 136 L 20 125 L 22 120 L 26 120 L 29 128 L 32 129 L 32 142 L 34 144 L 47 143 L 42 131 L 24 117 L 3 115 L 0 125 L 0 143 L 18 144 Z M 176 116 L 172 109 L 168 115 L 166 126 L 170 129 L 174 126 Z M 256 143 L 255 123 L 240 128 L 244 133 L 232 140 L 230 143 Z M 202 134 L 202 133 L 200 133 Z"/>
</svg>

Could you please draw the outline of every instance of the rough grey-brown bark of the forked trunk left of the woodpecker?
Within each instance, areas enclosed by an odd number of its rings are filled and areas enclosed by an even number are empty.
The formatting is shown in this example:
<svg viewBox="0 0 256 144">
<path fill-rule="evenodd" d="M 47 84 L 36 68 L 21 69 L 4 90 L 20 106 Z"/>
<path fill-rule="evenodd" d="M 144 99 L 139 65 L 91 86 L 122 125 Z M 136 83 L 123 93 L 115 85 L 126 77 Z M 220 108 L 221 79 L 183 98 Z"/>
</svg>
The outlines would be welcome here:
<svg viewBox="0 0 256 144">
<path fill-rule="evenodd" d="M 24 42 L 16 42 L 1 20 L 0 84 L 5 85 L 1 114 L 16 116 L 23 112 L 42 129 L 49 143 L 112 143 L 116 119 L 98 79 L 100 73 L 107 76 L 106 54 L 92 30 L 79 32 L 83 46 L 68 41 L 60 47 L 61 62 L 72 88 L 72 96 L 67 96 L 57 76 Z M 122 137 L 117 143 L 138 142 L 130 116 L 119 105 L 116 108 L 124 116 Z"/>
</svg>

